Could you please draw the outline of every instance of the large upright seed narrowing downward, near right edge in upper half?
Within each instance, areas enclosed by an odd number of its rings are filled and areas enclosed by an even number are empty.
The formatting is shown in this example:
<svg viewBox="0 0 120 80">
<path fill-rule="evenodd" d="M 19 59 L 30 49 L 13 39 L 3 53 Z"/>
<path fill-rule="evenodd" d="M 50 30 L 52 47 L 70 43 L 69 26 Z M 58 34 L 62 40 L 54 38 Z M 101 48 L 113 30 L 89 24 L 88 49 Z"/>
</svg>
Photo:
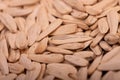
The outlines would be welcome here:
<svg viewBox="0 0 120 80">
<path fill-rule="evenodd" d="M 118 13 L 115 10 L 111 10 L 107 14 L 108 25 L 110 27 L 110 33 L 116 34 L 118 29 L 119 17 Z"/>
</svg>

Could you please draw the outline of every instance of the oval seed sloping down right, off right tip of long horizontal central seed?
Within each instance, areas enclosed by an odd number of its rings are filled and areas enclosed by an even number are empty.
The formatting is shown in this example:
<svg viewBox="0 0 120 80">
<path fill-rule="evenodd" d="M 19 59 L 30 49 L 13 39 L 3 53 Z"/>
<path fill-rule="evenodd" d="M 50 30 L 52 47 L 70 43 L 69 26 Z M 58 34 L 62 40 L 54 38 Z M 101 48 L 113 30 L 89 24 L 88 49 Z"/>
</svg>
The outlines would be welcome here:
<svg viewBox="0 0 120 80">
<path fill-rule="evenodd" d="M 87 66 L 88 61 L 80 56 L 65 55 L 65 60 L 76 66 Z"/>
</svg>

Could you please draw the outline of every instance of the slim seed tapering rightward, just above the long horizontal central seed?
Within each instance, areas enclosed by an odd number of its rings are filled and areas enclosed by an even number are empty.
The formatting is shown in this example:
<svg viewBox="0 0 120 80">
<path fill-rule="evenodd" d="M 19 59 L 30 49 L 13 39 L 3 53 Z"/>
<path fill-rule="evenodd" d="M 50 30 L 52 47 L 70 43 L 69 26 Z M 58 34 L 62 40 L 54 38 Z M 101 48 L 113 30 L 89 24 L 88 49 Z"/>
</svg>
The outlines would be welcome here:
<svg viewBox="0 0 120 80">
<path fill-rule="evenodd" d="M 47 50 L 50 52 L 54 52 L 54 53 L 60 53 L 60 54 L 73 54 L 72 51 L 67 50 L 67 49 L 63 49 L 57 46 L 48 46 Z"/>
</svg>

